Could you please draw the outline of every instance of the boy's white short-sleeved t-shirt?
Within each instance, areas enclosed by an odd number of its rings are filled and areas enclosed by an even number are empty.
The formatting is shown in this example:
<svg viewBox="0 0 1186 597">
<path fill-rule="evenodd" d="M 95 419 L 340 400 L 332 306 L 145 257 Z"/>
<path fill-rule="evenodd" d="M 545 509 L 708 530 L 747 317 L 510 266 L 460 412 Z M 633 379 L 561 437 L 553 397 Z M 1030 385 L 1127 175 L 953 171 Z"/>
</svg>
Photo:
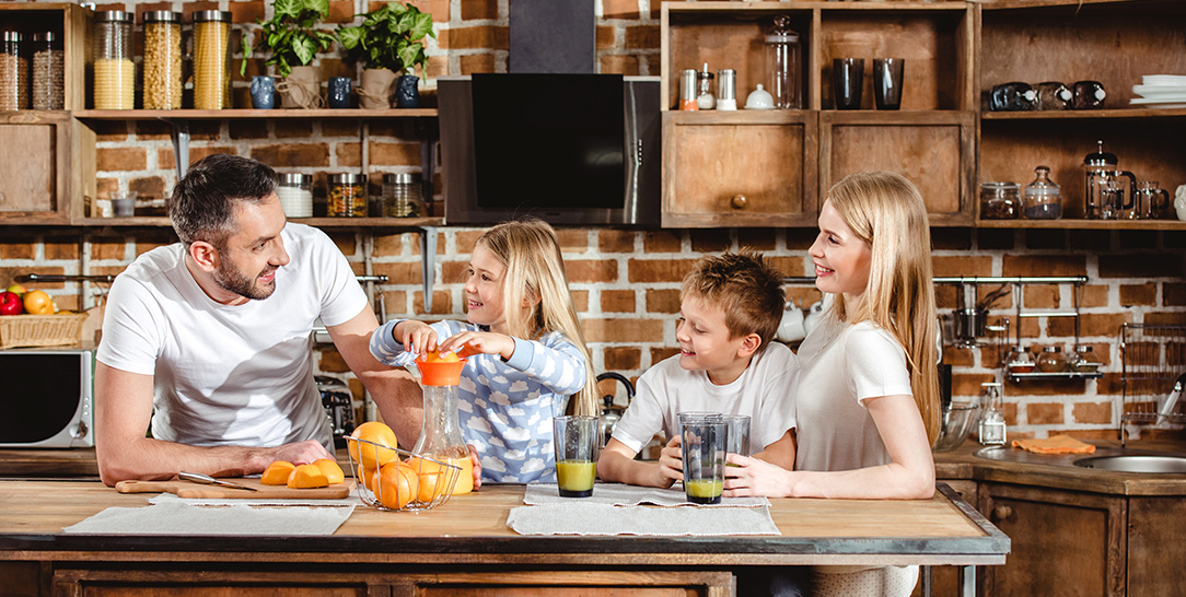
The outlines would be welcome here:
<svg viewBox="0 0 1186 597">
<path fill-rule="evenodd" d="M 750 416 L 750 452 L 757 454 L 795 429 L 795 383 L 798 359 L 785 345 L 770 342 L 754 355 L 741 377 L 714 385 L 704 371 L 680 366 L 680 355 L 664 359 L 638 378 L 635 398 L 613 430 L 613 438 L 640 451 L 657 431 L 680 435 L 677 413 L 710 411 Z"/>
</svg>

